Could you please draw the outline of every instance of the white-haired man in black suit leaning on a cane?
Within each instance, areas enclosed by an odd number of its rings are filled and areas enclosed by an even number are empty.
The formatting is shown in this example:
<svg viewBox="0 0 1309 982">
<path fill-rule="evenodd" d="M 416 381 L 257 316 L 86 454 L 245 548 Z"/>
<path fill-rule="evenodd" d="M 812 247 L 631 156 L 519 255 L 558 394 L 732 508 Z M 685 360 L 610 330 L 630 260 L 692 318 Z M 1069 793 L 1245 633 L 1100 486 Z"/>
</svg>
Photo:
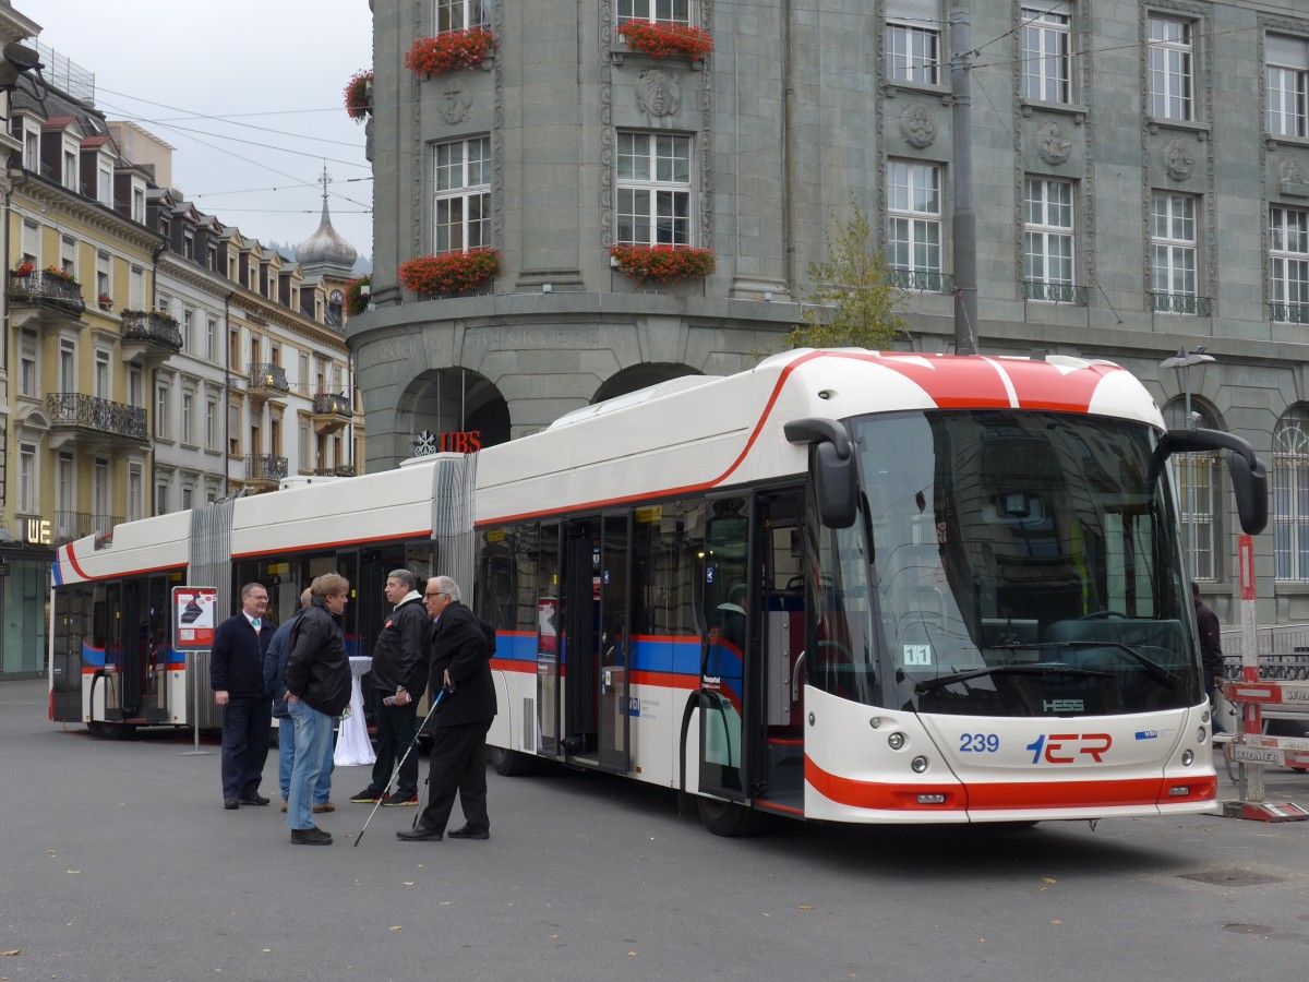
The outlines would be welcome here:
<svg viewBox="0 0 1309 982">
<path fill-rule="evenodd" d="M 436 622 L 432 685 L 446 695 L 433 714 L 428 805 L 412 829 L 402 829 L 395 837 L 406 842 L 440 841 L 458 792 L 465 824 L 450 838 L 486 839 L 491 835 L 487 731 L 496 714 L 490 644 L 482 619 L 459 602 L 459 585 L 449 576 L 428 580 L 423 600 Z"/>
</svg>

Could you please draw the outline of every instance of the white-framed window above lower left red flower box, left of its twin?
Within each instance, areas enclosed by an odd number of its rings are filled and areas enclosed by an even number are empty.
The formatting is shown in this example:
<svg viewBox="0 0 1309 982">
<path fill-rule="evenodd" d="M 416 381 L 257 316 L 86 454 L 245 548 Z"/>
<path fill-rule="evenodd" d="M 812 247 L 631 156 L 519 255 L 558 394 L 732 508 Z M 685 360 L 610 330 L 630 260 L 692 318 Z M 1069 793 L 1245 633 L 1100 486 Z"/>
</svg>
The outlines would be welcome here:
<svg viewBox="0 0 1309 982">
<path fill-rule="evenodd" d="M 491 137 L 432 144 L 432 251 L 491 246 Z"/>
</svg>

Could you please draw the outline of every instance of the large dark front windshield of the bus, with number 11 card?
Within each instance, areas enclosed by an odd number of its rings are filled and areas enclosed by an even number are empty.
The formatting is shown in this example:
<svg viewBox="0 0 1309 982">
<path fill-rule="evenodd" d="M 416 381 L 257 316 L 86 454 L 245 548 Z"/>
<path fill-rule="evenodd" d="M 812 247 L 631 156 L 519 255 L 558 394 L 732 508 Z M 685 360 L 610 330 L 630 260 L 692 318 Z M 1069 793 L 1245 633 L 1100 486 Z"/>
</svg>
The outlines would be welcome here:
<svg viewBox="0 0 1309 982">
<path fill-rule="evenodd" d="M 843 622 L 829 636 L 864 639 L 831 644 L 848 659 L 861 649 L 868 664 L 853 670 L 876 678 L 852 698 L 995 716 L 1200 702 L 1168 469 L 1149 427 L 959 410 L 864 416 L 851 435 L 864 522 L 823 550 L 843 597 L 821 606 Z"/>
</svg>

